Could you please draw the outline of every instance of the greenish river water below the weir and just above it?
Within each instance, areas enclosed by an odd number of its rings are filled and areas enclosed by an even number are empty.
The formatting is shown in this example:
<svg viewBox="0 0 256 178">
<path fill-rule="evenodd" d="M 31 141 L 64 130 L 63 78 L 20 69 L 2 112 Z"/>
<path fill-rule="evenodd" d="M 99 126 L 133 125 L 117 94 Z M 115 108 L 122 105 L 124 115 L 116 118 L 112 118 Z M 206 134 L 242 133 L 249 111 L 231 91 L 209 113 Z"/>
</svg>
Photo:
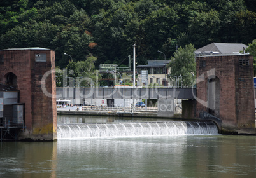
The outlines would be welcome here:
<svg viewBox="0 0 256 178">
<path fill-rule="evenodd" d="M 58 123 L 118 120 L 128 121 L 127 118 L 58 116 Z M 255 175 L 255 136 L 207 134 L 96 137 L 59 139 L 57 142 L 3 142 L 0 147 L 0 177 Z"/>
</svg>

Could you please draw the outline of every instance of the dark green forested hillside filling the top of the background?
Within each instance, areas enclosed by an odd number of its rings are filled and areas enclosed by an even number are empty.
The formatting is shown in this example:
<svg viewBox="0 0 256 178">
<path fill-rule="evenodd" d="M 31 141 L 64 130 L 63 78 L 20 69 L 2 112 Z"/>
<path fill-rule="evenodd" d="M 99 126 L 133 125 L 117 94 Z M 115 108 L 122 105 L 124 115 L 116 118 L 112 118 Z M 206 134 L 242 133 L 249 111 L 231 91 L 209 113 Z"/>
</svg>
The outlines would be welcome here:
<svg viewBox="0 0 256 178">
<path fill-rule="evenodd" d="M 92 53 L 101 63 L 128 65 L 173 56 L 177 46 L 256 39 L 255 0 L 1 0 L 0 48 L 55 50 L 56 64 Z"/>
</svg>

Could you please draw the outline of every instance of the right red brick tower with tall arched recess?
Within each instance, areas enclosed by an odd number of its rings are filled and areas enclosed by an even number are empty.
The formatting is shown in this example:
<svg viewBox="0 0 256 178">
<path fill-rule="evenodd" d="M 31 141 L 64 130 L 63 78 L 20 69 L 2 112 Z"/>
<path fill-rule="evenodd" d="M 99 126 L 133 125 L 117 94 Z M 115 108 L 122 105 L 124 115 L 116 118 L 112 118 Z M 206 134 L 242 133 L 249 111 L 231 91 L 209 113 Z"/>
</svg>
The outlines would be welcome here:
<svg viewBox="0 0 256 178">
<path fill-rule="evenodd" d="M 252 55 L 197 57 L 197 117 L 206 111 L 222 130 L 255 134 Z"/>
</svg>

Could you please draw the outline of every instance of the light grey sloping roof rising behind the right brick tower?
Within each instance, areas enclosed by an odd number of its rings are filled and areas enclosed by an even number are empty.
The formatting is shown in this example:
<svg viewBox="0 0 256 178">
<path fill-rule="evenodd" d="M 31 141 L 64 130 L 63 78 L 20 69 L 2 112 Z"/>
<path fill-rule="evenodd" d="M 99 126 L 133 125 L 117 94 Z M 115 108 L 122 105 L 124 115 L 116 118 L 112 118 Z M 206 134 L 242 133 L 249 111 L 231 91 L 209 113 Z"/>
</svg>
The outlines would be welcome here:
<svg viewBox="0 0 256 178">
<path fill-rule="evenodd" d="M 199 48 L 195 53 L 220 53 L 220 54 L 234 54 L 243 51 L 243 48 L 248 48 L 242 43 L 211 43 L 202 48 Z"/>
</svg>

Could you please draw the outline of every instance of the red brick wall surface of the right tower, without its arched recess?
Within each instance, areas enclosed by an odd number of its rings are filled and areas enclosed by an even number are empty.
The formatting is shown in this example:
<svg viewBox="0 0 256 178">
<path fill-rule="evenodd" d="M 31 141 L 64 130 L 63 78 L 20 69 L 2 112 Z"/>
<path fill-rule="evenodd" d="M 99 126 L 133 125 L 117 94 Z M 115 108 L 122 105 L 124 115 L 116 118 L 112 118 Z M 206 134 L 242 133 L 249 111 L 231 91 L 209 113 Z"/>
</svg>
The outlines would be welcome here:
<svg viewBox="0 0 256 178">
<path fill-rule="evenodd" d="M 239 66 L 239 58 L 249 58 L 250 65 L 246 69 Z M 206 61 L 205 67 L 200 67 L 201 60 Z M 197 99 L 197 117 L 201 111 L 208 111 L 208 79 L 212 70 L 220 81 L 219 118 L 223 128 L 239 130 L 245 124 L 255 128 L 252 60 L 250 55 L 197 57 L 197 98 L 206 102 L 202 104 Z M 241 76 L 246 78 L 243 84 L 239 81 Z"/>
</svg>

